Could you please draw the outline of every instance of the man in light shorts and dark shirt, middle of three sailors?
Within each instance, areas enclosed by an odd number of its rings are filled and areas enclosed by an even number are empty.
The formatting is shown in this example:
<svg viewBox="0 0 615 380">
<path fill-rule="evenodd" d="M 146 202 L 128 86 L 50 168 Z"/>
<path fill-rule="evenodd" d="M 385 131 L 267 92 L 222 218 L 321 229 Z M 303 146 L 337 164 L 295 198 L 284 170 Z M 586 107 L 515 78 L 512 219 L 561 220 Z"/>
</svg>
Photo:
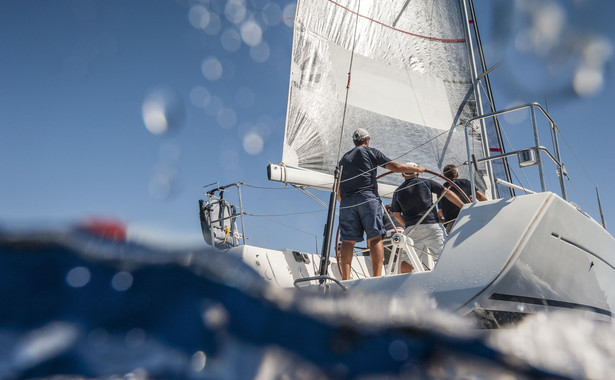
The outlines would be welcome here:
<svg viewBox="0 0 615 380">
<path fill-rule="evenodd" d="M 416 164 L 409 163 L 408 165 Z M 403 173 L 402 175 L 405 181 L 395 190 L 391 210 L 395 218 L 406 227 L 406 234 L 414 229 L 410 237 L 414 241 L 414 248 L 417 253 L 419 255 L 429 253 L 435 261 L 444 245 L 444 233 L 438 222 L 436 208 L 431 208 L 427 215 L 425 213 L 433 205 L 432 194 L 439 197 L 446 189 L 431 179 L 418 178 L 417 173 Z M 463 206 L 461 199 L 453 192 L 446 191 L 444 196 L 458 208 Z M 423 216 L 425 217 L 423 218 Z M 414 228 L 419 221 L 421 221 L 420 224 Z M 408 271 L 407 265 L 409 263 L 402 263 L 402 272 Z"/>
</svg>

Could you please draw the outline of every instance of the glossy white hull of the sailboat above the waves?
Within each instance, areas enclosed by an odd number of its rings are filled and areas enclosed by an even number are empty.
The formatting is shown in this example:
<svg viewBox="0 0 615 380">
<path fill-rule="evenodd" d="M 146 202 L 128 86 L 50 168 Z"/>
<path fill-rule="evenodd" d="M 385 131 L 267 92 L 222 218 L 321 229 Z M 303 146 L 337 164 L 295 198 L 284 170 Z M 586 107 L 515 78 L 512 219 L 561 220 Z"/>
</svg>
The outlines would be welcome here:
<svg viewBox="0 0 615 380">
<path fill-rule="evenodd" d="M 356 279 L 343 284 L 355 294 L 401 302 L 422 292 L 438 307 L 475 316 L 487 327 L 548 310 L 574 310 L 611 321 L 613 247 L 615 239 L 608 232 L 557 195 L 524 195 L 466 205 L 432 271 L 369 278 L 369 257 L 355 257 Z M 233 250 L 281 287 L 318 274 L 316 255 L 303 254 L 308 260 L 300 262 L 290 250 Z M 329 275 L 339 279 L 334 259 Z M 342 292 L 332 283 L 330 290 Z"/>
</svg>

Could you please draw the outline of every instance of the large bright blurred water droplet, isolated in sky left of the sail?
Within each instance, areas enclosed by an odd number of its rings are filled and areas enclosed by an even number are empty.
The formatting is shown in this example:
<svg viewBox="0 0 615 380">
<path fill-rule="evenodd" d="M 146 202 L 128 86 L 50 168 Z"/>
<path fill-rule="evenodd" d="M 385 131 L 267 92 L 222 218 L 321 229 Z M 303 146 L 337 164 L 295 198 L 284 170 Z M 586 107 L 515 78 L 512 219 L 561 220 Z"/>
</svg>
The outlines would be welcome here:
<svg viewBox="0 0 615 380">
<path fill-rule="evenodd" d="M 163 135 L 179 129 L 184 120 L 184 104 L 176 91 L 159 88 L 145 97 L 141 114 L 148 131 Z"/>
</svg>

